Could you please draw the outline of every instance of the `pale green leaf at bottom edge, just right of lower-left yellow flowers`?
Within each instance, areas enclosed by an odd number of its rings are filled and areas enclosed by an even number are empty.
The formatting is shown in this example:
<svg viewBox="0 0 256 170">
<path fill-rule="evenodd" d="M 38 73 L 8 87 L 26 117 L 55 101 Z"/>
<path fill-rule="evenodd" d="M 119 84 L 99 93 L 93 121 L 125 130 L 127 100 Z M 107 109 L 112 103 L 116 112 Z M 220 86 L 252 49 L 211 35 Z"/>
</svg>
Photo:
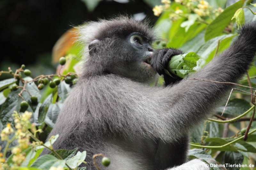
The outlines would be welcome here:
<svg viewBox="0 0 256 170">
<path fill-rule="evenodd" d="M 65 163 L 66 163 L 65 160 L 57 159 L 52 155 L 43 155 L 38 159 L 36 159 L 36 161 L 33 162 L 31 167 L 36 167 L 40 169 L 50 169 L 51 166 L 54 166 L 54 167 L 60 166 L 63 168 L 65 166 Z"/>
</svg>

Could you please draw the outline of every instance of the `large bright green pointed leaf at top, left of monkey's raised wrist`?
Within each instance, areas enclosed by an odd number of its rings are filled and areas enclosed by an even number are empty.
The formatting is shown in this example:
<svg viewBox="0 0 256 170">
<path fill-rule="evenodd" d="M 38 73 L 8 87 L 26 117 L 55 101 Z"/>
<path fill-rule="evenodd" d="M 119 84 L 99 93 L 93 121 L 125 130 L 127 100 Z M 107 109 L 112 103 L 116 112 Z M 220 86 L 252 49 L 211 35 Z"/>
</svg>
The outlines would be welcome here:
<svg viewBox="0 0 256 170">
<path fill-rule="evenodd" d="M 204 40 L 208 41 L 214 37 L 222 34 L 223 30 L 228 26 L 231 21 L 232 16 L 235 14 L 238 8 L 241 8 L 244 1 L 240 0 L 233 5 L 227 7 L 220 15 L 215 18 L 212 23 L 206 28 L 204 34 Z"/>
</svg>

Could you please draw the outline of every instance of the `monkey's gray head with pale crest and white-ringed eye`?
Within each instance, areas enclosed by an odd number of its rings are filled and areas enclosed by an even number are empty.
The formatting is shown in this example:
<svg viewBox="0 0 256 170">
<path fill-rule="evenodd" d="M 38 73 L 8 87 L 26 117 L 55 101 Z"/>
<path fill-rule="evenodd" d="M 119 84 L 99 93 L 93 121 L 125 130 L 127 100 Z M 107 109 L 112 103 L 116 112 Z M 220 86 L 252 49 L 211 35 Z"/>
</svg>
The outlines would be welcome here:
<svg viewBox="0 0 256 170">
<path fill-rule="evenodd" d="M 86 44 L 84 75 L 112 73 L 136 81 L 150 81 L 156 71 L 150 65 L 155 35 L 145 22 L 122 17 L 90 22 L 80 28 Z"/>
</svg>

